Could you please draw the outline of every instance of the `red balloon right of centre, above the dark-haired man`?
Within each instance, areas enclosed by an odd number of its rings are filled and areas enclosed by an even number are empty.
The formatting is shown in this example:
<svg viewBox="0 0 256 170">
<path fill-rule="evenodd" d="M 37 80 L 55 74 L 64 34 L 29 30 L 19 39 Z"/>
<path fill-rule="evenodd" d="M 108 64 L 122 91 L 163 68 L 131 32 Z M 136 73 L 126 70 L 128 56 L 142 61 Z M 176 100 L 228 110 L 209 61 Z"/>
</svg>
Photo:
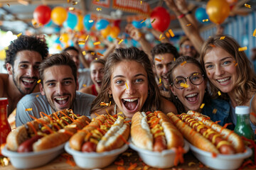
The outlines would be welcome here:
<svg viewBox="0 0 256 170">
<path fill-rule="evenodd" d="M 158 6 L 154 8 L 150 15 L 151 26 L 155 30 L 164 32 L 169 27 L 171 22 L 170 14 L 166 11 L 166 8 Z"/>
</svg>

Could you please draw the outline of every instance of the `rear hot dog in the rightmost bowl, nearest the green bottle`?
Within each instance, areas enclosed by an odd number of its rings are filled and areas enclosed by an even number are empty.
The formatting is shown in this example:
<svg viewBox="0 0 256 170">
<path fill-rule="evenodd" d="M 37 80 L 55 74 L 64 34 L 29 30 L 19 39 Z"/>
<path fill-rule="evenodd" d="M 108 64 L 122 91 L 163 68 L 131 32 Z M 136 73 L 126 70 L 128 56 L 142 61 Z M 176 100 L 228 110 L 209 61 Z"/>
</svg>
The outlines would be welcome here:
<svg viewBox="0 0 256 170">
<path fill-rule="evenodd" d="M 219 132 L 220 135 L 222 135 L 226 140 L 232 143 L 233 147 L 235 147 L 236 153 L 241 153 L 245 151 L 245 144 L 242 138 L 232 130 L 223 128 L 221 125 L 218 125 L 218 123 L 213 122 L 212 120 L 210 120 L 210 118 L 208 118 L 206 115 L 202 115 L 201 113 L 188 111 L 187 114 L 191 115 L 191 117 L 195 118 L 196 120 L 200 120 L 203 124 L 208 125 L 216 132 Z"/>
</svg>

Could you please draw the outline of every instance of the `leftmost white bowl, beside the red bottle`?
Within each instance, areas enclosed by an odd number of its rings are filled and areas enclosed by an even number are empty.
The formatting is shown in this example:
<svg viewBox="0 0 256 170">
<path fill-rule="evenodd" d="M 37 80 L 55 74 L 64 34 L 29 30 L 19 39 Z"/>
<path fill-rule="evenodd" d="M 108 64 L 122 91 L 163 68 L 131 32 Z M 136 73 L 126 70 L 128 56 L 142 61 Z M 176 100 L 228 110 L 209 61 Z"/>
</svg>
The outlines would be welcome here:
<svg viewBox="0 0 256 170">
<path fill-rule="evenodd" d="M 53 160 L 59 154 L 64 152 L 64 145 L 65 143 L 52 149 L 46 149 L 40 152 L 26 153 L 13 152 L 7 149 L 7 146 L 5 146 L 1 152 L 4 154 L 4 156 L 11 159 L 11 164 L 16 169 L 31 169 L 47 164 Z"/>
</svg>

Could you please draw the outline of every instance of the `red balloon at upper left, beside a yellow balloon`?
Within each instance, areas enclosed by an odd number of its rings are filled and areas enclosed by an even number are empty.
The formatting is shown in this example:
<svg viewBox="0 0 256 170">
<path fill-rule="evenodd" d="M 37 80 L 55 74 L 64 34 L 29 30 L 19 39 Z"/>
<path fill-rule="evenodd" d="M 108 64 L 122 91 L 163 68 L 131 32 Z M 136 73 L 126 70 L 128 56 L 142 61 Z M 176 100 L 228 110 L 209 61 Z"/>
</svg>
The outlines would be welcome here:
<svg viewBox="0 0 256 170">
<path fill-rule="evenodd" d="M 50 12 L 51 9 L 49 6 L 40 5 L 36 7 L 35 11 L 33 11 L 33 18 L 36 22 L 45 25 L 50 21 Z"/>
</svg>

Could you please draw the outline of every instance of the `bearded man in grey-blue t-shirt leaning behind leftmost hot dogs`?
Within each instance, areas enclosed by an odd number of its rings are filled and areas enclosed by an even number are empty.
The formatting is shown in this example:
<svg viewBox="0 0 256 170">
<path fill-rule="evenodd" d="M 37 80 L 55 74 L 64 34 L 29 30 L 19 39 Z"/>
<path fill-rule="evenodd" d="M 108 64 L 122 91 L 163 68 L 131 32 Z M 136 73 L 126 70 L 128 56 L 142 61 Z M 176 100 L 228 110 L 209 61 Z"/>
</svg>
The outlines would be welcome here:
<svg viewBox="0 0 256 170">
<path fill-rule="evenodd" d="M 95 96 L 78 90 L 77 67 L 67 52 L 52 55 L 39 66 L 40 93 L 24 96 L 17 105 L 16 126 L 40 118 L 40 112 L 50 115 L 63 109 L 73 109 L 75 114 L 90 115 Z"/>
</svg>

